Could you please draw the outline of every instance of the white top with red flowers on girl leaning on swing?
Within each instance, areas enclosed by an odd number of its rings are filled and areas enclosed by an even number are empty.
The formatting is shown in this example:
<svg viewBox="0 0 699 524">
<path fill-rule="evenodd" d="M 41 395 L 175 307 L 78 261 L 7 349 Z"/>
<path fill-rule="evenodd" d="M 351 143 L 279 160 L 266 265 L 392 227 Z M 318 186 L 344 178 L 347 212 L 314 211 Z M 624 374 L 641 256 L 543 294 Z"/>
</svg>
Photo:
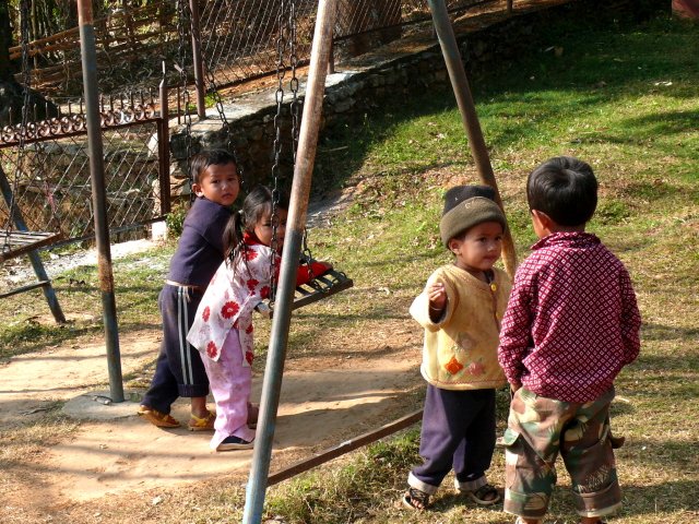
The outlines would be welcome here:
<svg viewBox="0 0 699 524">
<path fill-rule="evenodd" d="M 221 264 L 201 299 L 197 318 L 187 341 L 202 357 L 217 361 L 228 332 L 240 335 L 242 365 L 251 366 L 253 357 L 252 312 L 270 295 L 272 250 L 260 243 L 247 246 L 245 259 L 232 267 Z"/>
</svg>

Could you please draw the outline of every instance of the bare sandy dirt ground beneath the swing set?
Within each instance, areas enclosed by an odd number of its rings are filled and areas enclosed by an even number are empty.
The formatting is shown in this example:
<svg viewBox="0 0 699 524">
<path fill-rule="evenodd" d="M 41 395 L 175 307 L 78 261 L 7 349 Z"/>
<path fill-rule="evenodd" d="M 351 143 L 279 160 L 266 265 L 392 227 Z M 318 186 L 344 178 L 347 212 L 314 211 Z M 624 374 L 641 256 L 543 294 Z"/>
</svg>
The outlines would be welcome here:
<svg viewBox="0 0 699 524">
<path fill-rule="evenodd" d="M 401 358 L 375 358 L 372 347 L 384 341 L 365 340 L 367 358 L 304 366 L 295 360 L 285 372 L 271 473 L 344 440 L 387 424 L 414 409 L 419 379 L 419 331 L 401 330 L 394 347 L 412 347 Z M 139 372 L 157 353 L 159 332 L 128 334 L 120 340 L 122 373 Z M 356 354 L 355 354 L 356 355 Z M 323 369 L 324 371 L 305 371 Z M 0 424 L 27 425 L 57 401 L 78 429 L 57 445 L 32 453 L 12 466 L 0 487 L 0 522 L 46 522 L 61 508 L 129 498 L 153 488 L 186 486 L 227 475 L 242 485 L 251 451 L 216 453 L 211 433 L 156 428 L 135 415 L 138 393 L 127 401 L 103 404 L 108 382 L 103 341 L 81 347 L 51 347 L 13 358 L 0 367 Z M 254 378 L 259 401 L 262 377 Z M 174 415 L 187 420 L 188 405 L 178 401 Z M 17 519 L 20 515 L 22 517 Z M 14 519 L 11 519 L 14 516 Z M 16 519 L 16 520 L 15 520 Z M 78 522 L 78 521 L 73 521 Z"/>
</svg>

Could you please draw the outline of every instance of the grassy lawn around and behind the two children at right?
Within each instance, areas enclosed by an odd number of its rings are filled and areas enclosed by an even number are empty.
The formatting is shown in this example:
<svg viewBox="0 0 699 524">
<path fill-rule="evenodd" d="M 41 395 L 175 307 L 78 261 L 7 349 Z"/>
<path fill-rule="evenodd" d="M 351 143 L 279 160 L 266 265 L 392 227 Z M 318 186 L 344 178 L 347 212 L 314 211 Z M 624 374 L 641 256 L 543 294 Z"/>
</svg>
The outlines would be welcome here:
<svg viewBox="0 0 699 524">
<path fill-rule="evenodd" d="M 548 44 L 558 45 L 562 36 L 553 31 Z M 639 360 L 619 377 L 619 400 L 613 406 L 615 431 L 628 439 L 618 453 L 625 507 L 614 522 L 685 523 L 697 517 L 692 486 L 699 471 L 691 457 L 699 424 L 690 407 L 699 395 L 699 330 L 692 320 L 699 306 L 692 293 L 699 287 L 699 99 L 692 91 L 699 71 L 690 51 L 697 46 L 695 26 L 666 17 L 614 31 L 588 28 L 565 34 L 562 57 L 542 52 L 507 74 L 489 73 L 479 79 L 487 88 L 474 88 L 519 254 L 534 240 L 523 194 L 526 172 L 548 156 L 580 156 L 592 163 L 601 182 L 590 230 L 619 254 L 635 281 L 643 347 Z M 353 166 L 348 179 L 359 184 L 346 216 L 332 230 L 313 236 L 357 281 L 391 290 L 389 309 L 370 294 L 333 299 L 333 308 L 357 319 L 354 329 L 368 329 L 363 317 L 404 311 L 429 272 L 448 260 L 438 239 L 440 196 L 453 170 L 463 169 L 475 181 L 460 116 L 434 98 L 418 98 L 365 121 L 360 146 L 350 140 L 357 129 L 328 144 L 347 145 L 342 151 L 348 158 L 339 164 Z M 335 245 L 344 245 L 352 257 L 343 258 Z M 303 330 L 305 322 L 299 317 L 295 329 Z M 337 319 L 331 329 L 341 325 Z M 507 401 L 499 404 L 502 427 Z M 416 450 L 416 431 L 401 439 L 407 440 L 378 449 Z M 405 475 L 419 457 L 408 451 L 389 471 L 381 463 L 366 471 L 372 450 L 271 490 L 269 514 L 284 522 L 511 521 L 447 495 L 449 479 L 435 498 L 435 512 L 396 510 Z M 559 474 L 548 519 L 573 523 L 578 519 L 562 466 Z M 496 453 L 489 475 L 502 485 L 501 454 Z"/>
</svg>

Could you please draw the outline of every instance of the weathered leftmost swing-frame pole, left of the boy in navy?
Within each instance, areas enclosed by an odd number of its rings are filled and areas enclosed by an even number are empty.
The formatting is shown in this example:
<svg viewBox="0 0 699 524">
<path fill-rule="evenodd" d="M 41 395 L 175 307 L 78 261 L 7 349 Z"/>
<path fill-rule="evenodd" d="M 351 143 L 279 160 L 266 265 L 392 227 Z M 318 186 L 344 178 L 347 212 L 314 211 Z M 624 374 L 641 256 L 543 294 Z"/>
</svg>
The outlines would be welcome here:
<svg viewBox="0 0 699 524">
<path fill-rule="evenodd" d="M 114 296 L 111 250 L 109 248 L 109 223 L 105 192 L 105 165 L 99 122 L 97 86 L 97 56 L 93 26 L 92 0 L 78 0 L 80 23 L 80 53 L 83 67 L 85 117 L 87 121 L 87 145 L 90 153 L 90 178 L 92 202 L 95 210 L 95 237 L 97 239 L 97 271 L 102 290 L 102 308 L 105 321 L 107 366 L 109 368 L 109 392 L 111 402 L 123 402 L 119 333 L 117 330 L 117 306 Z"/>
</svg>

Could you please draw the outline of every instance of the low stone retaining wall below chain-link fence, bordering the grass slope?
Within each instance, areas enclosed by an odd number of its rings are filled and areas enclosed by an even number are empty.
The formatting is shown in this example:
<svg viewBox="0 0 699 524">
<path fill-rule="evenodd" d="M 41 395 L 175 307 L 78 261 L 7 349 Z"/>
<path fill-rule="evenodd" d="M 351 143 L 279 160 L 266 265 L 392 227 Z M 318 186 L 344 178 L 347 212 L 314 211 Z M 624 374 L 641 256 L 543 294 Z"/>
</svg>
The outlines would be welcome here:
<svg viewBox="0 0 699 524">
<path fill-rule="evenodd" d="M 514 15 L 509 17 L 502 13 L 499 21 L 489 20 L 475 29 L 462 27 L 467 21 L 466 17 L 455 21 L 454 29 L 470 82 L 477 82 L 479 72 L 489 63 L 513 61 L 518 56 L 537 49 L 536 35 L 557 20 L 585 16 L 600 23 L 602 10 L 623 13 L 627 9 L 627 2 L 624 1 L 614 5 L 602 0 L 556 3 L 543 10 L 516 11 Z M 413 94 L 426 91 L 451 90 L 439 45 L 429 31 L 427 34 L 402 38 L 372 53 L 337 64 L 336 70 L 341 72 L 328 75 L 327 80 L 321 138 L 323 132 L 332 131 L 334 126 L 352 124 L 366 114 L 381 110 L 381 105 L 388 99 L 408 98 Z M 285 99 L 288 100 L 288 96 L 287 94 Z M 272 179 L 275 112 L 273 91 L 240 97 L 226 107 L 233 143 L 248 186 L 256 182 L 270 183 Z M 216 112 L 210 110 L 208 115 L 211 115 L 211 118 L 192 127 L 196 150 L 224 146 L 228 140 Z M 284 108 L 282 119 L 286 122 L 282 134 L 288 135 L 288 107 Z M 182 145 L 181 131 L 175 132 L 171 140 L 174 176 L 180 180 L 174 180 L 174 184 L 180 187 L 181 171 L 177 172 L 177 158 L 185 157 Z M 288 154 L 281 158 L 280 174 L 282 183 L 288 183 L 293 175 Z M 313 183 L 318 181 L 315 180 Z"/>
</svg>

